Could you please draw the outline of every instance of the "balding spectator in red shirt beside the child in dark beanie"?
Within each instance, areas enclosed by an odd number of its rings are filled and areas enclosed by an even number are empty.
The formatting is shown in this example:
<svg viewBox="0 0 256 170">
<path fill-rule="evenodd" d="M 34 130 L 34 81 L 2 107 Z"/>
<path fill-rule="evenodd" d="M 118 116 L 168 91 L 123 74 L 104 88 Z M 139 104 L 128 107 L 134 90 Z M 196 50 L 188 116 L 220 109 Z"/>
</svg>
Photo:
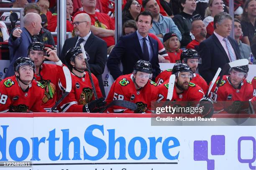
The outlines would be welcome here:
<svg viewBox="0 0 256 170">
<path fill-rule="evenodd" d="M 195 36 L 195 40 L 189 42 L 186 48 L 195 49 L 196 45 L 199 45 L 200 42 L 206 38 L 206 27 L 202 20 L 194 20 L 191 25 L 191 33 Z"/>
</svg>

